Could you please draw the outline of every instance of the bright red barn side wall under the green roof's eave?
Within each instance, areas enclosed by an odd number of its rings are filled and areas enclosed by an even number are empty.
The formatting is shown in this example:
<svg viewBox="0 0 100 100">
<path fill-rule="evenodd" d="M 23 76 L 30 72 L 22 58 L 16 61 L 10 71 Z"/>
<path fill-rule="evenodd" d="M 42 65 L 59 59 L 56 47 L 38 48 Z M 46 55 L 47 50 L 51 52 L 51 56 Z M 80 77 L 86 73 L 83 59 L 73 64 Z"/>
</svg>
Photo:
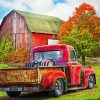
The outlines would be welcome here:
<svg viewBox="0 0 100 100">
<path fill-rule="evenodd" d="M 47 45 L 48 39 L 53 39 L 52 34 L 32 33 L 32 47 Z M 57 39 L 57 37 L 54 39 Z"/>
</svg>

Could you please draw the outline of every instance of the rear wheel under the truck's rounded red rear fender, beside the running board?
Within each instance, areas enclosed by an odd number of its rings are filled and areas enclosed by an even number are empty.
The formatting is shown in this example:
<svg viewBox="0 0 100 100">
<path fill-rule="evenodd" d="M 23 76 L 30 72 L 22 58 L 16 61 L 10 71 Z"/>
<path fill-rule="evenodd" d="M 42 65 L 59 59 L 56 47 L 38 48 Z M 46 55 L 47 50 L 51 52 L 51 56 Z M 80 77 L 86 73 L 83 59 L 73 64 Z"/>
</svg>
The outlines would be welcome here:
<svg viewBox="0 0 100 100">
<path fill-rule="evenodd" d="M 54 89 L 49 91 L 49 95 L 53 97 L 59 97 L 63 94 L 64 91 L 64 84 L 62 79 L 57 79 L 55 81 Z"/>
</svg>

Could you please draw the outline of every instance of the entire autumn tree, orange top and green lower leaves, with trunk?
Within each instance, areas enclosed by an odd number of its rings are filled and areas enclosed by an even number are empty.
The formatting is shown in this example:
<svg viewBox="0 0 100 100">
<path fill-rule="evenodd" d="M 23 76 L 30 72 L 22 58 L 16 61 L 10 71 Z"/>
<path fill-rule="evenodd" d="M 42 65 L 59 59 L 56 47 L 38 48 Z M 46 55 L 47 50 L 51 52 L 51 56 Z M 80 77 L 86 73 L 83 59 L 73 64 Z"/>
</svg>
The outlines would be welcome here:
<svg viewBox="0 0 100 100">
<path fill-rule="evenodd" d="M 73 45 L 85 64 L 85 56 L 100 48 L 100 18 L 93 6 L 83 3 L 75 8 L 73 16 L 62 24 L 58 37 L 60 43 Z"/>
</svg>

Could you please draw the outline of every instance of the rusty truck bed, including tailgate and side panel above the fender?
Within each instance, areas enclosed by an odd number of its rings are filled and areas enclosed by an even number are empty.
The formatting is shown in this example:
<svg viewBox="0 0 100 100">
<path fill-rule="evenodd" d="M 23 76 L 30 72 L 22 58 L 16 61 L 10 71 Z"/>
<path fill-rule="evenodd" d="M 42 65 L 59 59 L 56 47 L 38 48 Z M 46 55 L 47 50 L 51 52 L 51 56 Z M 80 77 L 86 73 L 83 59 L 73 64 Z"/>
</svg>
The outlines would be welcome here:
<svg viewBox="0 0 100 100">
<path fill-rule="evenodd" d="M 0 85 L 39 84 L 47 71 L 57 71 L 62 67 L 38 67 L 38 68 L 8 68 L 0 69 Z"/>
</svg>

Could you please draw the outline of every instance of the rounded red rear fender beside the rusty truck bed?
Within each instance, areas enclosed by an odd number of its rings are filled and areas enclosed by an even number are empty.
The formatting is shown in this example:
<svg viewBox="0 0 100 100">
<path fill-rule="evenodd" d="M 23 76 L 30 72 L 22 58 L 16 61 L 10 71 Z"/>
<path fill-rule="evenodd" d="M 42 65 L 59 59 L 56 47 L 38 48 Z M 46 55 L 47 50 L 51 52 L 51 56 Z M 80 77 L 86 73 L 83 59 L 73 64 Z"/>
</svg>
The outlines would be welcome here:
<svg viewBox="0 0 100 100">
<path fill-rule="evenodd" d="M 50 89 L 54 86 L 55 80 L 58 78 L 65 79 L 65 73 L 62 71 L 48 71 L 42 78 L 41 86 Z"/>
</svg>

